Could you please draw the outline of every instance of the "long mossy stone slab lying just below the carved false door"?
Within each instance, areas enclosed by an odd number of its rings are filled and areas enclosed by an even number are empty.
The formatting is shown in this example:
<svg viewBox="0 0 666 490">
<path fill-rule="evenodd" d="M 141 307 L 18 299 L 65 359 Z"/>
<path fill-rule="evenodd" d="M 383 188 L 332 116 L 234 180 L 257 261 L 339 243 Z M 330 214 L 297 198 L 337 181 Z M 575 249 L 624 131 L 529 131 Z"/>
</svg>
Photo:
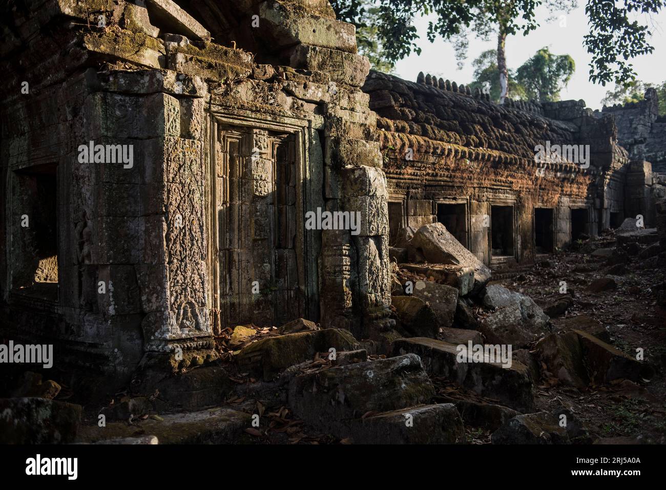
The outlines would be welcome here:
<svg viewBox="0 0 666 490">
<path fill-rule="evenodd" d="M 245 369 L 258 370 L 265 380 L 294 364 L 314 358 L 316 352 L 355 350 L 356 339 L 346 330 L 325 328 L 264 338 L 244 347 L 236 357 Z"/>
</svg>

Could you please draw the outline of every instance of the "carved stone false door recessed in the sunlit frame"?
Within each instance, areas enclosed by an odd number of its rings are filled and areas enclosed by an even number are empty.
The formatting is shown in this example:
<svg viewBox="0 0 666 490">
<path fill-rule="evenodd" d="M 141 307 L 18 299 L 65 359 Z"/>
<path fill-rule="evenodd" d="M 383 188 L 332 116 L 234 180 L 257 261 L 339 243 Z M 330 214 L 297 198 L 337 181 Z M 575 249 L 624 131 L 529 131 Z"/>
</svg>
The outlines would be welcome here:
<svg viewBox="0 0 666 490">
<path fill-rule="evenodd" d="M 298 134 L 232 123 L 215 131 L 220 327 L 306 316 Z"/>
</svg>

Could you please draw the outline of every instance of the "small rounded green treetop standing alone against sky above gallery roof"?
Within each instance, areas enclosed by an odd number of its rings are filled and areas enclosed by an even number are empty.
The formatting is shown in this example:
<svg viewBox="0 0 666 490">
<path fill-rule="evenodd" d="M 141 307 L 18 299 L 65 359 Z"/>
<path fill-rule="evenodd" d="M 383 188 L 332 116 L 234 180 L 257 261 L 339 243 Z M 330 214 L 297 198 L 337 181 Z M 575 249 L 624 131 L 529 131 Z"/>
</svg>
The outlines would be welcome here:
<svg viewBox="0 0 666 490">
<path fill-rule="evenodd" d="M 569 55 L 553 55 L 547 47 L 525 61 L 516 71 L 516 79 L 530 100 L 559 101 L 559 92 L 567 86 L 575 71 Z"/>
</svg>

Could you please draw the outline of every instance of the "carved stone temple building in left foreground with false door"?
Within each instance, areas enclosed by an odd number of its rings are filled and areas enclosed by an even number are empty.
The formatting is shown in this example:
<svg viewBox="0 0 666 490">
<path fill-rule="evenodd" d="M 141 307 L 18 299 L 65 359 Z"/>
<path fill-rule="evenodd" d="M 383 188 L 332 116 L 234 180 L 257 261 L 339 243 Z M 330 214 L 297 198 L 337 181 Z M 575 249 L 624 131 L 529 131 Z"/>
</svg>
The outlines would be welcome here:
<svg viewBox="0 0 666 490">
<path fill-rule="evenodd" d="M 237 322 L 303 316 L 362 337 L 390 323 L 369 63 L 328 1 L 28 0 L 3 15 L 13 338 L 59 340 L 113 389 L 148 355 L 167 370 L 213 360 L 212 336 Z M 131 147 L 133 162 L 82 161 L 91 141 Z M 43 168 L 57 181 L 51 296 L 15 287 L 38 255 L 15 182 Z M 307 229 L 318 208 L 359 212 L 358 234 Z"/>
</svg>

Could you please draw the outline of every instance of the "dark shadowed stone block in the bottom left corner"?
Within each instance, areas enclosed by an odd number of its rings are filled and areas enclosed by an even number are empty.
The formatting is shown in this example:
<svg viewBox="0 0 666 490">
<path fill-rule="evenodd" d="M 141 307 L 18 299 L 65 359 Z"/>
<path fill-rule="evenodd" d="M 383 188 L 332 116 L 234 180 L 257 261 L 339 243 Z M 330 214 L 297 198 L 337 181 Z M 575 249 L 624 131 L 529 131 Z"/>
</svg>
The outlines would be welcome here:
<svg viewBox="0 0 666 490">
<path fill-rule="evenodd" d="M 67 444 L 74 441 L 81 405 L 45 398 L 0 398 L 0 443 Z"/>
</svg>

